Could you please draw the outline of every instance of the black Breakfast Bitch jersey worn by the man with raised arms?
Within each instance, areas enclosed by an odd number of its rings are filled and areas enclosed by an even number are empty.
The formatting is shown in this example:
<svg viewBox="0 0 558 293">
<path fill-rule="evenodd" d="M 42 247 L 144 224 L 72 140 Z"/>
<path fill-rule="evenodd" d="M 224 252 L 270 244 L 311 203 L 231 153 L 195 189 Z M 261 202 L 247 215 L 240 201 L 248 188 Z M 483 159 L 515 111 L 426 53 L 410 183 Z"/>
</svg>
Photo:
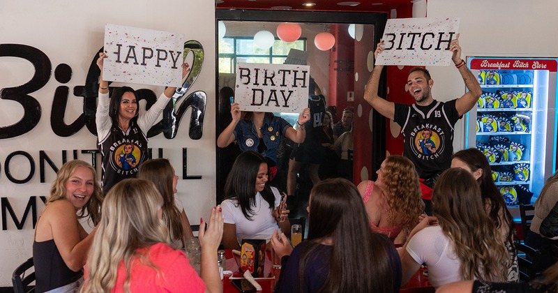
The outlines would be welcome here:
<svg viewBox="0 0 558 293">
<path fill-rule="evenodd" d="M 431 179 L 450 167 L 453 127 L 460 118 L 455 100 L 434 100 L 428 106 L 395 103 L 394 121 L 401 126 L 403 156 L 412 160 L 422 179 Z"/>
</svg>

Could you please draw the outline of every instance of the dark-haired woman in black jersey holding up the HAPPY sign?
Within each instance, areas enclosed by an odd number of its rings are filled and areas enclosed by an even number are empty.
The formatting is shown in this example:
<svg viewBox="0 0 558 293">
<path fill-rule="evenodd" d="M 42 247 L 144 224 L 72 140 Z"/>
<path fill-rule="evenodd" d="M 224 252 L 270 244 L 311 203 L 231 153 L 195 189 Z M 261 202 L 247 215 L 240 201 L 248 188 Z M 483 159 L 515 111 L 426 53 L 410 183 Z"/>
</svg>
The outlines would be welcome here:
<svg viewBox="0 0 558 293">
<path fill-rule="evenodd" d="M 130 87 L 119 87 L 109 97 L 109 84 L 103 80 L 103 63 L 107 55 L 99 53 L 99 101 L 97 105 L 97 137 L 103 158 L 103 194 L 122 179 L 135 177 L 139 165 L 147 157 L 146 133 L 171 100 L 176 87 L 167 87 L 156 103 L 139 114 L 137 95 Z M 182 64 L 182 77 L 190 71 Z"/>
</svg>

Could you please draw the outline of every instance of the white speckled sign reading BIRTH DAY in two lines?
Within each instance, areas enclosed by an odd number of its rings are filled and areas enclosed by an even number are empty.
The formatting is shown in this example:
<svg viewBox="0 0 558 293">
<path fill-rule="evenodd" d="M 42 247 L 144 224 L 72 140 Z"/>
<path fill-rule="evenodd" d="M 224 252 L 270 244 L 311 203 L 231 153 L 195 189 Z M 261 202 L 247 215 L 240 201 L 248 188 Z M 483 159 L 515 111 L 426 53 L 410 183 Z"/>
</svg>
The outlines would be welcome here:
<svg viewBox="0 0 558 293">
<path fill-rule="evenodd" d="M 300 113 L 308 107 L 310 66 L 238 63 L 234 102 L 252 112 Z"/>
</svg>

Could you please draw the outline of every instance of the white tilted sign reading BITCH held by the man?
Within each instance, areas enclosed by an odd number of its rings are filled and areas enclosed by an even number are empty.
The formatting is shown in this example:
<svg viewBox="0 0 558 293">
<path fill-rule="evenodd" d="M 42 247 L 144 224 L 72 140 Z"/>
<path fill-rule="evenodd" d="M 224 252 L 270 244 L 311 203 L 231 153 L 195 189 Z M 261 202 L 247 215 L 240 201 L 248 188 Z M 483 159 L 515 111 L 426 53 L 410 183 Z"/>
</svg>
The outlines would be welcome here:
<svg viewBox="0 0 558 293">
<path fill-rule="evenodd" d="M 459 18 L 391 19 L 384 29 L 384 51 L 377 65 L 448 66 L 450 43 L 458 35 Z"/>
</svg>

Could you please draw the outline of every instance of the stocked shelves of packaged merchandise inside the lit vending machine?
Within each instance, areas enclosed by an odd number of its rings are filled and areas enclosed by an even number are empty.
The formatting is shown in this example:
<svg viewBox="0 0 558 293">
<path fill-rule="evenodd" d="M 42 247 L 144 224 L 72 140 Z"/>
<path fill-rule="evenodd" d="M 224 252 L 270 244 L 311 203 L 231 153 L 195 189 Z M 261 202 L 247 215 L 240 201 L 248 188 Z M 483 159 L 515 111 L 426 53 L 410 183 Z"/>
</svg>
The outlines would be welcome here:
<svg viewBox="0 0 558 293">
<path fill-rule="evenodd" d="M 534 70 L 479 70 L 476 147 L 492 169 L 506 204 L 530 193 Z"/>
</svg>

